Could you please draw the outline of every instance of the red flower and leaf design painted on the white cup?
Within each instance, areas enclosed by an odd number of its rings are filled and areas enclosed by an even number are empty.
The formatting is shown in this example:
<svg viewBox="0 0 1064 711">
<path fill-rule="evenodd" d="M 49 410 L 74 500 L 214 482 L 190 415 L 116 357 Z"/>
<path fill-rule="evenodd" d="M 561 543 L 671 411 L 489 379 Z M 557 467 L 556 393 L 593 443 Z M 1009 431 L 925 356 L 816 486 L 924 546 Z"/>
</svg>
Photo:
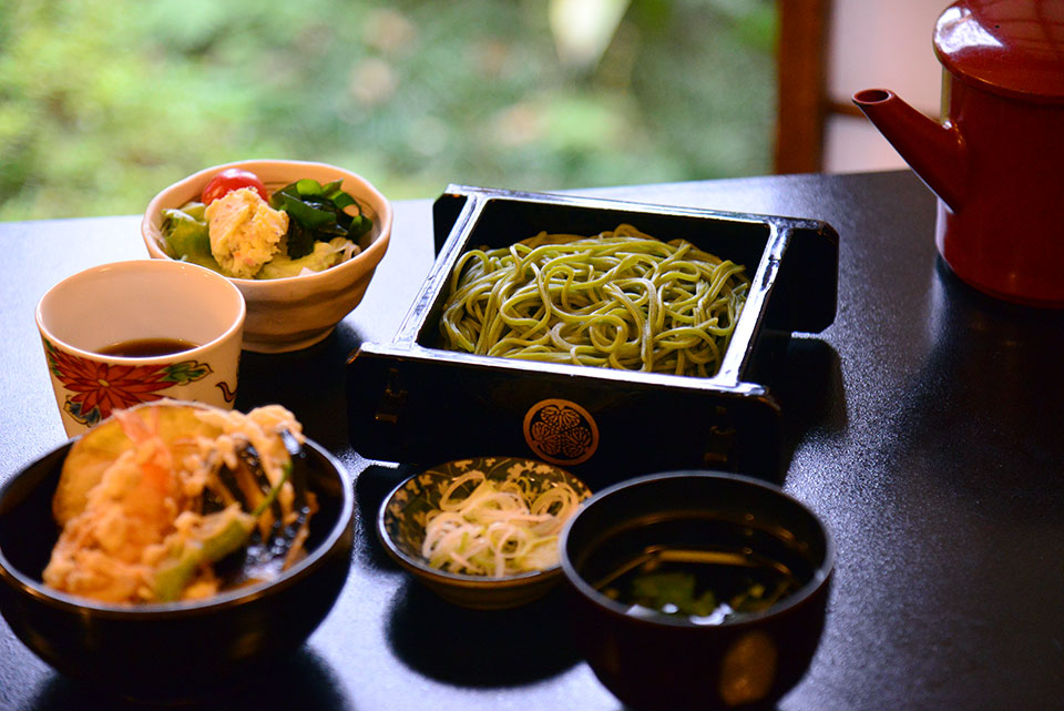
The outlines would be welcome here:
<svg viewBox="0 0 1064 711">
<path fill-rule="evenodd" d="M 44 339 L 44 353 L 52 375 L 73 393 L 66 396 L 63 409 L 90 427 L 110 417 L 115 409 L 162 399 L 162 390 L 193 383 L 212 372 L 209 365 L 196 360 L 149 365 L 100 363 L 61 351 L 48 339 Z"/>
</svg>

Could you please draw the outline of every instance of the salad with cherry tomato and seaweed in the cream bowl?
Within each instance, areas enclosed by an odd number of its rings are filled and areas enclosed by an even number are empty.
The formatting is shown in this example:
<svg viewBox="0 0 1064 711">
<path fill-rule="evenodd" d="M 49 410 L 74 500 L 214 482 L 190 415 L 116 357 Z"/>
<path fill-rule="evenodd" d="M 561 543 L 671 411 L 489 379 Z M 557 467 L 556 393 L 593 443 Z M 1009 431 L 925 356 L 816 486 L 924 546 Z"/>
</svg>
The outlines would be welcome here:
<svg viewBox="0 0 1064 711">
<path fill-rule="evenodd" d="M 198 201 L 163 210 L 162 246 L 236 278 L 321 272 L 358 254 L 372 227 L 341 183 L 304 179 L 270 193 L 254 173 L 222 171 Z"/>
</svg>

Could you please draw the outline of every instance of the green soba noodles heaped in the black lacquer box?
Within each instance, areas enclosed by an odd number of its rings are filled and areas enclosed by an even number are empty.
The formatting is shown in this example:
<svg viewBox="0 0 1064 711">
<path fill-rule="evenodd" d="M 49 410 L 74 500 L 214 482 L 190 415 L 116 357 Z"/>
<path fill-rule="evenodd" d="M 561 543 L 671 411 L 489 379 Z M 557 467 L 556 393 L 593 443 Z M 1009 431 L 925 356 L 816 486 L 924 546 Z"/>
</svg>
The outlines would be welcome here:
<svg viewBox="0 0 1064 711">
<path fill-rule="evenodd" d="M 749 285 L 741 265 L 631 225 L 541 232 L 463 254 L 440 331 L 478 355 L 708 377 Z"/>
</svg>

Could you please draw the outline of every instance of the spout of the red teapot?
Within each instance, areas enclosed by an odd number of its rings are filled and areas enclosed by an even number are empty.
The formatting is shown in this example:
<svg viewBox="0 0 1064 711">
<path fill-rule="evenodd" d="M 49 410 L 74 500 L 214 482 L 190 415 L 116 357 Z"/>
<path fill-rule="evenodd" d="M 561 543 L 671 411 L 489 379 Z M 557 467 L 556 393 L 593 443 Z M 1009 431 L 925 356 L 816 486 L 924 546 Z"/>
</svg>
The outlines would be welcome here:
<svg viewBox="0 0 1064 711">
<path fill-rule="evenodd" d="M 853 103 L 950 210 L 964 200 L 965 150 L 955 126 L 920 113 L 886 89 L 866 89 Z"/>
</svg>

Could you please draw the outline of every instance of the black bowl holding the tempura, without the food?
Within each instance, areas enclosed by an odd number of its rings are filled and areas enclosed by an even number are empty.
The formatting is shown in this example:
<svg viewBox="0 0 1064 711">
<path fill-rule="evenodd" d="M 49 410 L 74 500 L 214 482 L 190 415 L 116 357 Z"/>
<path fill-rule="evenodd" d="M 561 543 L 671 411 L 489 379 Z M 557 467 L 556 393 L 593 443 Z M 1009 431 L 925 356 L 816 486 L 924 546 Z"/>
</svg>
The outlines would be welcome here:
<svg viewBox="0 0 1064 711">
<path fill-rule="evenodd" d="M 129 699 L 195 700 L 286 658 L 332 608 L 350 568 L 354 489 L 339 463 L 309 440 L 299 466 L 318 511 L 306 557 L 277 578 L 202 601 L 125 606 L 45 587 L 41 572 L 59 537 L 52 496 L 71 445 L 0 489 L 0 613 L 57 670 Z"/>
</svg>

